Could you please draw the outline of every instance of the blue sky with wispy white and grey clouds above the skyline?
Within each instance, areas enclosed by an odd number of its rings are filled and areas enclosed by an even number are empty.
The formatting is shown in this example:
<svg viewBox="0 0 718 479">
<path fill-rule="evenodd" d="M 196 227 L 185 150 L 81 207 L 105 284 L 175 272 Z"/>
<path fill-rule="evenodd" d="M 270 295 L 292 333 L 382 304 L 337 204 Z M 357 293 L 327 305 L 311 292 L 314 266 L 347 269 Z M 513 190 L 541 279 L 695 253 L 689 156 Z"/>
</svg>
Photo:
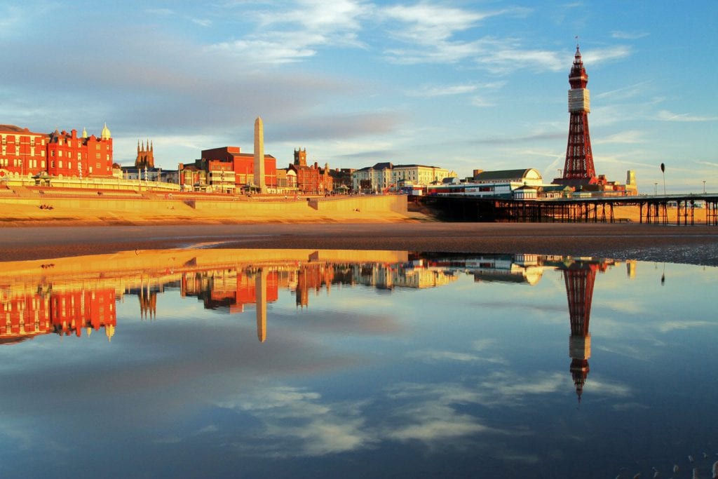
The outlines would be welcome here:
<svg viewBox="0 0 718 479">
<path fill-rule="evenodd" d="M 640 192 L 718 192 L 718 2 L 0 2 L 0 124 L 106 123 L 114 159 L 138 141 L 174 169 L 202 149 L 277 167 L 564 167 L 580 45 L 598 174 Z M 665 164 L 665 176 L 660 165 Z M 705 182 L 705 183 L 704 183 Z"/>
</svg>

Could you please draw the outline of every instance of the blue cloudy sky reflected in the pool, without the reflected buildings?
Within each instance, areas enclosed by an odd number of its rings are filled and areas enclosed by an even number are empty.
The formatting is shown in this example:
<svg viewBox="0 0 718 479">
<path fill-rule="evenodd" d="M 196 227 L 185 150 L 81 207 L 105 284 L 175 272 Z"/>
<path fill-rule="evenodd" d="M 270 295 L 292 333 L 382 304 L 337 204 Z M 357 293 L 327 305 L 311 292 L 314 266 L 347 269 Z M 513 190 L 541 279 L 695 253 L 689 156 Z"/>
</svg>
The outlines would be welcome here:
<svg viewBox="0 0 718 479">
<path fill-rule="evenodd" d="M 173 290 L 140 320 L 126 295 L 111 343 L 0 347 L 0 475 L 668 477 L 714 440 L 716 279 L 597 273 L 580 403 L 560 271 L 533 286 L 332 287 L 303 309 L 280 291 L 265 343 L 253 306 L 218 315 Z"/>
</svg>

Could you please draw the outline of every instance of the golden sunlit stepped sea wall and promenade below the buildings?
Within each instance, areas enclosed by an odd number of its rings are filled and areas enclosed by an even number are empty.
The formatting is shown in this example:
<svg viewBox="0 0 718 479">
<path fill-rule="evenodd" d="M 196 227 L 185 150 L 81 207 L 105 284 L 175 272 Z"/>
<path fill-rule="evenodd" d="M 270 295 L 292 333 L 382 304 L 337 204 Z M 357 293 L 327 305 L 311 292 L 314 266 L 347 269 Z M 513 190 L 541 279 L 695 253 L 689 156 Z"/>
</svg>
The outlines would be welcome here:
<svg viewBox="0 0 718 479">
<path fill-rule="evenodd" d="M 0 227 L 412 220 L 406 196 L 222 195 L 0 186 Z"/>
</svg>

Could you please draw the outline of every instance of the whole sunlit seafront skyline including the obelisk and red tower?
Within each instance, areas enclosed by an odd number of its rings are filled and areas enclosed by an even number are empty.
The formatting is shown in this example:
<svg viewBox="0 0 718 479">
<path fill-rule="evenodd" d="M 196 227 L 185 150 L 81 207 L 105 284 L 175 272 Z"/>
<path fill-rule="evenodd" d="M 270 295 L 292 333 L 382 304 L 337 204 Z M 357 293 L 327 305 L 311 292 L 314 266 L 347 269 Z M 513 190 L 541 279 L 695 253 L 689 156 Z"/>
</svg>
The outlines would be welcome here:
<svg viewBox="0 0 718 479">
<path fill-rule="evenodd" d="M 177 169 L 164 169 L 154 164 L 154 144 L 149 139 L 137 143 L 134 167 L 113 162 L 112 137 L 107 125 L 99 137 L 83 129 L 55 130 L 50 134 L 34 133 L 13 125 L 0 125 L 2 152 L 0 182 L 26 182 L 32 185 L 73 185 L 85 178 L 85 185 L 102 186 L 103 179 L 142 182 L 149 188 L 173 185 L 180 191 L 246 193 L 302 193 L 329 195 L 333 193 L 404 192 L 412 195 L 470 195 L 477 197 L 513 197 L 526 200 L 537 197 L 579 195 L 635 195 L 635 175 L 629 171 L 625 185 L 597 175 L 589 136 L 590 112 L 588 75 L 579 46 L 569 73 L 569 139 L 563 175 L 544 182 L 533 168 L 503 169 L 493 172 L 474 171 L 472 177 L 460 179 L 447 169 L 423 164 L 378 162 L 360 169 L 330 169 L 325 163 L 307 164 L 307 149 L 294 149 L 294 161 L 286 168 L 277 167 L 276 158 L 264 154 L 264 126 L 255 122 L 254 152 L 241 152 L 240 147 L 205 149 L 200 159 L 180 163 Z M 68 180 L 69 179 L 69 180 Z M 69 182 L 68 182 L 69 181 Z M 113 182 L 110 182 L 114 185 Z M 119 185 L 119 182 L 117 183 Z M 119 186 L 118 186 L 119 187 Z M 132 183 L 124 185 L 132 187 Z"/>
</svg>

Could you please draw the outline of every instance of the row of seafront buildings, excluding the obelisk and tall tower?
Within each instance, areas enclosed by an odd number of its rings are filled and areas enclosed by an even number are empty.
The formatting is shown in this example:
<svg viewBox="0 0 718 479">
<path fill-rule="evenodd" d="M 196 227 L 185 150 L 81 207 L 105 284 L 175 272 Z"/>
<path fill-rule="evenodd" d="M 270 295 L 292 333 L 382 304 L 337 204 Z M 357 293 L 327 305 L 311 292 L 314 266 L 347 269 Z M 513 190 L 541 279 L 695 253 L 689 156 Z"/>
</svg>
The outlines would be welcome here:
<svg viewBox="0 0 718 479">
<path fill-rule="evenodd" d="M 134 166 L 121 167 L 113 162 L 113 139 L 107 125 L 100 136 L 81 135 L 73 129 L 50 134 L 34 133 L 17 126 L 0 125 L 2 152 L 1 182 L 22 185 L 78 185 L 93 180 L 93 185 L 111 187 L 123 180 L 124 187 L 152 184 L 172 185 L 179 191 L 256 192 L 253 154 L 240 147 L 204 149 L 200 159 L 180 163 L 177 169 L 162 169 L 154 163 L 154 144 L 138 141 Z M 67 183 L 73 180 L 75 183 Z M 64 181 L 64 182 L 63 182 Z M 460 179 L 448 169 L 424 164 L 378 162 L 360 169 L 330 169 L 316 162 L 307 164 L 307 149 L 294 149 L 294 162 L 286 168 L 276 166 L 276 158 L 264 155 L 264 184 L 275 194 L 381 193 L 404 192 L 411 195 L 472 195 L 516 197 L 561 197 L 574 187 L 544 182 L 533 168 L 483 171 L 475 169 L 471 177 Z M 607 183 L 605 183 L 607 184 Z M 629 172 L 628 192 L 635 188 Z M 614 189 L 610 184 L 611 190 Z M 605 188 L 604 188 L 605 190 Z M 624 188 L 616 188 L 624 194 Z"/>
</svg>

